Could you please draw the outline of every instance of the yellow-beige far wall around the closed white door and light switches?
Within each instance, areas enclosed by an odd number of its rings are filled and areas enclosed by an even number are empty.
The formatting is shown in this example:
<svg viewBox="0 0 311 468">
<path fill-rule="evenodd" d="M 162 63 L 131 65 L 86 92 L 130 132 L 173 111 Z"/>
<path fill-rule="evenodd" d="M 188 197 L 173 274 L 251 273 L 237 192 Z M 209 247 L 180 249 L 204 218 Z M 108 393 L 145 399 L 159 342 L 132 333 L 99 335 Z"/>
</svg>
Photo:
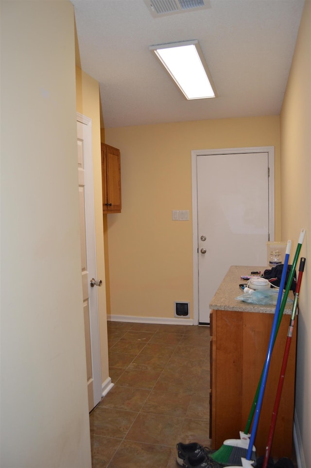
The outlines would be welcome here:
<svg viewBox="0 0 311 468">
<path fill-rule="evenodd" d="M 280 240 L 278 116 L 106 128 L 105 141 L 122 178 L 122 213 L 107 215 L 108 313 L 174 318 L 174 301 L 190 301 L 192 316 L 192 222 L 172 221 L 172 209 L 191 213 L 191 150 L 275 146 Z"/>
</svg>

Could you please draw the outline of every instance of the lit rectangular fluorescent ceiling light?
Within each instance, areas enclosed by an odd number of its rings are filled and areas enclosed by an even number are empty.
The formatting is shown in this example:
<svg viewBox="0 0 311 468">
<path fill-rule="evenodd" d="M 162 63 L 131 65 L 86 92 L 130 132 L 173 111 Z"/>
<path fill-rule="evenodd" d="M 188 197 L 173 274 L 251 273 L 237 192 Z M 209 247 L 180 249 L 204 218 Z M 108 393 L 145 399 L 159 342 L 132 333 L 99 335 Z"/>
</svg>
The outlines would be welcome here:
<svg viewBox="0 0 311 468">
<path fill-rule="evenodd" d="M 155 52 L 187 99 L 216 97 L 214 84 L 197 40 L 150 46 L 149 49 Z"/>
</svg>

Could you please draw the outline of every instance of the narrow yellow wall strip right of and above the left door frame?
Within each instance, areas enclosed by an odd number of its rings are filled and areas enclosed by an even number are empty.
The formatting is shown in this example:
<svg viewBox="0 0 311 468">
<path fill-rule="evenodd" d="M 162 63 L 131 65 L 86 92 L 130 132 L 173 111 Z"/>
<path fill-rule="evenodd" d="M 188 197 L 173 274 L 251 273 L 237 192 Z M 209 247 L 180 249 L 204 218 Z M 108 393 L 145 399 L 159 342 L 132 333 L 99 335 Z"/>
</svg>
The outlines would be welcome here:
<svg viewBox="0 0 311 468">
<path fill-rule="evenodd" d="M 97 277 L 105 284 L 99 83 L 76 67 L 77 111 L 92 119 Z M 109 378 L 105 287 L 97 288 L 102 384 Z"/>
</svg>

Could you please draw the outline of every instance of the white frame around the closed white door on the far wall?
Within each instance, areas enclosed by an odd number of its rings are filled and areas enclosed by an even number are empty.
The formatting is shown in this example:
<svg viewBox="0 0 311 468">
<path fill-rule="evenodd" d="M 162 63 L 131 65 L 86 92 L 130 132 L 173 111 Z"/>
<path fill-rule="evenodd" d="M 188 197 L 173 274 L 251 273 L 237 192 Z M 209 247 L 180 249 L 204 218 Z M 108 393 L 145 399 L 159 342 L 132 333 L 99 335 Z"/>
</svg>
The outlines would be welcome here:
<svg viewBox="0 0 311 468">
<path fill-rule="evenodd" d="M 270 241 L 275 235 L 275 193 L 274 193 L 274 146 L 256 146 L 252 148 L 225 148 L 214 150 L 191 151 L 191 177 L 192 177 L 192 246 L 193 246 L 193 325 L 199 323 L 199 260 L 198 260 L 198 183 L 197 183 L 197 156 L 229 155 L 242 153 L 268 153 L 269 162 L 269 234 Z"/>
</svg>

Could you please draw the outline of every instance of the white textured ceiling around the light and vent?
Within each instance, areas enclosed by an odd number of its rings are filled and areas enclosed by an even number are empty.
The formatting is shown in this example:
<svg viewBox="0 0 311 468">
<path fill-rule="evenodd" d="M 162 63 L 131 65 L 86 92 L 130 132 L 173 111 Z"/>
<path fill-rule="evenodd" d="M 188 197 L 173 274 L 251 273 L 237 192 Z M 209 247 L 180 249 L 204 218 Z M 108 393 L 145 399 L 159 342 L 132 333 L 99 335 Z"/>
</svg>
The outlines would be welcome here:
<svg viewBox="0 0 311 468">
<path fill-rule="evenodd" d="M 105 128 L 278 115 L 304 0 L 210 0 L 154 18 L 143 0 L 71 0 Z M 218 97 L 187 101 L 149 46 L 198 39 Z"/>
</svg>

